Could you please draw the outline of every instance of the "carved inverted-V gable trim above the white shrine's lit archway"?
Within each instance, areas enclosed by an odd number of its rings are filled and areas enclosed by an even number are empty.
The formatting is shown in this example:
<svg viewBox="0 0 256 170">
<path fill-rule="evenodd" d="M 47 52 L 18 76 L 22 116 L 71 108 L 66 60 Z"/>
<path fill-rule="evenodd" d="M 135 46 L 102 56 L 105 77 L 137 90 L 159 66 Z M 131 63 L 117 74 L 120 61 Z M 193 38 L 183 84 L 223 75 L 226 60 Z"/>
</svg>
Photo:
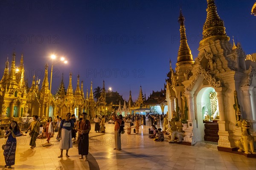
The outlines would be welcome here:
<svg viewBox="0 0 256 170">
<path fill-rule="evenodd" d="M 186 88 L 187 91 L 191 91 L 194 86 L 195 83 L 197 82 L 199 76 L 204 76 L 204 78 L 209 82 L 209 84 L 213 87 L 213 88 L 219 88 L 221 87 L 221 81 L 220 80 L 216 80 L 215 77 L 213 77 L 211 74 L 209 74 L 208 71 L 205 71 L 204 68 L 202 68 L 201 65 L 198 65 L 198 69 L 195 72 L 195 77 L 193 79 L 193 81 L 191 82 L 191 84 Z"/>
</svg>

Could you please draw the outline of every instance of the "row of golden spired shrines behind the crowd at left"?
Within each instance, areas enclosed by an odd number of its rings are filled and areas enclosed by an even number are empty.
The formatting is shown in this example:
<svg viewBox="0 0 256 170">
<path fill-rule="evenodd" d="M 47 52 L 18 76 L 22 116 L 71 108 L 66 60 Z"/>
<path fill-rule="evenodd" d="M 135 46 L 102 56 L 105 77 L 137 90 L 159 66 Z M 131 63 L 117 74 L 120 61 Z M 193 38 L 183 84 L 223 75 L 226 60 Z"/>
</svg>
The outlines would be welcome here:
<svg viewBox="0 0 256 170">
<path fill-rule="evenodd" d="M 32 117 L 38 115 L 41 119 L 49 116 L 65 117 L 67 113 L 80 116 L 82 112 L 87 112 L 90 117 L 95 116 L 96 102 L 93 99 L 93 83 L 91 82 L 90 96 L 84 97 L 83 82 L 77 76 L 76 90 L 72 88 L 72 73 L 69 74 L 69 85 L 67 91 L 64 86 L 63 74 L 60 86 L 55 95 L 49 96 L 48 64 L 45 65 L 44 80 L 41 89 L 40 79 L 33 76 L 31 88 L 25 82 L 23 54 L 20 58 L 20 66 L 15 66 L 16 54 L 12 55 L 12 65 L 9 69 L 7 58 L 3 77 L 0 81 L 0 119 L 5 124 L 11 119 L 19 122 L 20 117 Z M 87 93 L 88 95 L 88 93 Z M 49 101 L 50 97 L 50 101 Z"/>
</svg>

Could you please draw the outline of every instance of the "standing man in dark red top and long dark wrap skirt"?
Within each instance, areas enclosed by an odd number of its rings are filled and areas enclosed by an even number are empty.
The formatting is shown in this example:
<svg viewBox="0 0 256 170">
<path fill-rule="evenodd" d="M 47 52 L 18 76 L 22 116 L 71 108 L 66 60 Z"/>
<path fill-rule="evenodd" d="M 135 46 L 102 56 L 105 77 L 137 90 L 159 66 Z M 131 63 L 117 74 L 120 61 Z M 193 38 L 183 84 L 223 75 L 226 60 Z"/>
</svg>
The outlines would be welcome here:
<svg viewBox="0 0 256 170">
<path fill-rule="evenodd" d="M 85 161 L 88 161 L 88 151 L 89 151 L 89 132 L 91 130 L 90 121 L 87 120 L 87 113 L 82 113 L 83 119 L 79 122 L 77 130 L 79 131 L 78 139 L 78 153 L 81 155 L 80 159 L 83 159 L 85 155 Z"/>
</svg>

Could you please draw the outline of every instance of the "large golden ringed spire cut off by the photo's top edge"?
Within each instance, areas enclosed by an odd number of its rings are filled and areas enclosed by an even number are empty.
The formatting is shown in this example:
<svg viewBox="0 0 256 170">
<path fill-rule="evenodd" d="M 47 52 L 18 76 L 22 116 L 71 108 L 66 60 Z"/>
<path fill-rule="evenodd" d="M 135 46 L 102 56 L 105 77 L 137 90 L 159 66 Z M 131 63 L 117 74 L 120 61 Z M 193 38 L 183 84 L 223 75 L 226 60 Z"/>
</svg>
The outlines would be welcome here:
<svg viewBox="0 0 256 170">
<path fill-rule="evenodd" d="M 225 40 L 229 41 L 230 37 L 227 36 L 224 22 L 218 16 L 217 8 L 214 0 L 207 0 L 207 17 L 203 27 L 203 40 L 200 45 L 209 40 Z"/>
</svg>

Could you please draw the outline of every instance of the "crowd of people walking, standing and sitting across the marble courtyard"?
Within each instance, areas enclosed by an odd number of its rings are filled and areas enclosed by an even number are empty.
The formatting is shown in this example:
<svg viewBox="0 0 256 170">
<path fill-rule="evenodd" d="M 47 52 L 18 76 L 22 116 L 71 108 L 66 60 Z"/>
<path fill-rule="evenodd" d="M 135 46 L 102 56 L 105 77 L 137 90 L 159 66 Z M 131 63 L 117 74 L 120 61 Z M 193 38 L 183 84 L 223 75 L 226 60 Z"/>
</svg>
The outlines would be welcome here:
<svg viewBox="0 0 256 170">
<path fill-rule="evenodd" d="M 148 117 L 148 119 L 154 120 L 158 119 L 161 120 L 161 116 L 152 115 Z M 129 115 L 129 116 L 116 116 L 112 114 L 112 120 L 115 122 L 114 126 L 114 137 L 115 137 L 115 148 L 114 150 L 122 150 L 121 147 L 121 135 L 125 133 L 124 127 L 127 127 L 127 134 L 131 134 L 131 127 L 135 125 L 134 133 L 139 133 L 140 125 L 145 125 L 145 115 Z M 98 132 L 105 133 L 105 116 L 103 115 L 101 118 L 96 115 L 93 119 L 95 122 L 94 130 Z M 134 122 L 134 123 L 133 123 Z M 157 121 L 156 121 L 157 122 Z M 73 147 L 72 139 L 76 139 L 78 144 L 78 153 L 81 155 L 79 159 L 83 159 L 85 156 L 85 161 L 88 161 L 88 151 L 89 151 L 89 132 L 91 130 L 90 120 L 87 119 L 87 113 L 82 113 L 82 116 L 79 120 L 76 120 L 75 115 L 71 115 L 71 113 L 67 113 L 65 119 L 61 119 L 61 117 L 56 117 L 55 120 L 52 117 L 49 117 L 48 120 L 45 122 L 44 125 L 41 125 L 40 118 L 37 115 L 33 116 L 33 121 L 31 122 L 29 128 L 26 130 L 25 133 L 28 133 L 31 136 L 29 145 L 30 148 L 36 147 L 36 139 L 40 138 L 47 138 L 47 143 L 49 143 L 50 138 L 54 136 L 54 132 L 58 132 L 57 141 L 59 141 L 59 148 L 60 148 L 60 156 L 58 158 L 63 157 L 63 150 L 66 150 L 66 157 L 70 157 L 68 155 L 68 151 L 70 148 Z M 161 131 L 161 128 L 156 128 L 155 125 L 149 129 L 149 138 L 154 139 L 154 141 L 163 141 L 164 135 Z M 41 133 L 41 134 L 40 134 Z M 152 134 L 151 134 L 152 133 Z M 76 134 L 78 137 L 76 138 Z M 20 130 L 16 121 L 12 121 L 8 130 L 4 130 L 1 127 L 0 130 L 0 138 L 7 138 L 6 144 L 2 147 L 4 149 L 3 155 L 5 158 L 6 165 L 5 167 L 12 168 L 12 165 L 15 164 L 15 151 L 16 151 L 16 144 L 17 136 L 26 136 Z"/>
</svg>

